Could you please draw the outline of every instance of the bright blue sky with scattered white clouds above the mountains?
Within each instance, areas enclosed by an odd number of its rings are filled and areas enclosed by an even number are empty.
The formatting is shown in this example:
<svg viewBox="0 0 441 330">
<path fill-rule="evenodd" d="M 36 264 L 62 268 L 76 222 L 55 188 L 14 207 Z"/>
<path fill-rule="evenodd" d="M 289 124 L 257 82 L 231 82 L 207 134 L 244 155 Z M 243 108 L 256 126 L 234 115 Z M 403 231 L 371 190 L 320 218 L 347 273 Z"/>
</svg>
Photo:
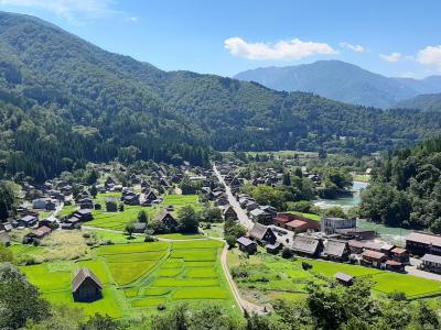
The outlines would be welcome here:
<svg viewBox="0 0 441 330">
<path fill-rule="evenodd" d="M 232 76 L 341 59 L 386 76 L 441 75 L 441 1 L 0 0 L 161 69 Z"/>
</svg>

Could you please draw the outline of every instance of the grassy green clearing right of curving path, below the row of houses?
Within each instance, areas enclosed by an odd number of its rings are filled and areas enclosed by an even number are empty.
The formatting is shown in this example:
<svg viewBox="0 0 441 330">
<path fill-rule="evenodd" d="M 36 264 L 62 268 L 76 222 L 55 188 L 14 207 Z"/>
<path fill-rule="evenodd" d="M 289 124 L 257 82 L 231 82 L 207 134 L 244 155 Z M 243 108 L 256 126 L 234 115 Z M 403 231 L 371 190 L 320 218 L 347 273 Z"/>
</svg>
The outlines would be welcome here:
<svg viewBox="0 0 441 330">
<path fill-rule="evenodd" d="M 312 268 L 304 271 L 302 262 L 308 262 Z M 305 258 L 287 261 L 263 253 L 245 258 L 238 250 L 228 253 L 228 265 L 236 267 L 238 272 L 246 272 L 247 276 L 237 277 L 235 280 L 243 295 L 258 304 L 266 304 L 277 298 L 300 299 L 305 296 L 308 283 L 327 285 L 324 278 L 331 280 L 337 272 L 372 278 L 374 283 L 372 289 L 378 295 L 391 292 L 402 292 L 408 298 L 441 295 L 441 283 L 437 280 L 358 265 Z"/>
</svg>

